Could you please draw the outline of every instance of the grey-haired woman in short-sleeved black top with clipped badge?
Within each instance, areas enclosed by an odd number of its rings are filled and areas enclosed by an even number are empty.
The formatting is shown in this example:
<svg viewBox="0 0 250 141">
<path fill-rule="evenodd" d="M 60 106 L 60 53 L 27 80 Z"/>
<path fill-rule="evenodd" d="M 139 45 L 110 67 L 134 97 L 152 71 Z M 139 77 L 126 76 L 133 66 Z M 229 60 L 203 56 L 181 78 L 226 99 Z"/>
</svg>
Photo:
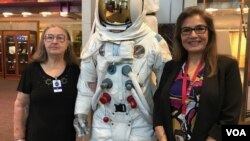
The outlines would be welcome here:
<svg viewBox="0 0 250 141">
<path fill-rule="evenodd" d="M 22 73 L 14 106 L 17 141 L 75 141 L 73 127 L 80 73 L 67 30 L 52 25 Z"/>
</svg>

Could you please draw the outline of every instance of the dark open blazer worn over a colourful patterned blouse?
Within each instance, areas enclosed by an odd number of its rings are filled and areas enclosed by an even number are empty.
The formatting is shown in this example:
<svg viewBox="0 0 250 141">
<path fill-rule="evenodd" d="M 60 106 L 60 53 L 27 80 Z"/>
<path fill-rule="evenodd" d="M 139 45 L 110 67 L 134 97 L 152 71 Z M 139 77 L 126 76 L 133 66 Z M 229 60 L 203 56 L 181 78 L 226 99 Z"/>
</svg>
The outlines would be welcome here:
<svg viewBox="0 0 250 141">
<path fill-rule="evenodd" d="M 154 126 L 162 125 L 169 141 L 174 141 L 169 90 L 184 62 L 169 61 L 165 64 L 158 89 L 154 95 Z M 204 141 L 207 136 L 221 140 L 221 125 L 237 124 L 241 109 L 242 84 L 236 60 L 218 56 L 217 74 L 207 77 L 208 67 L 201 88 L 201 97 L 192 141 Z"/>
</svg>

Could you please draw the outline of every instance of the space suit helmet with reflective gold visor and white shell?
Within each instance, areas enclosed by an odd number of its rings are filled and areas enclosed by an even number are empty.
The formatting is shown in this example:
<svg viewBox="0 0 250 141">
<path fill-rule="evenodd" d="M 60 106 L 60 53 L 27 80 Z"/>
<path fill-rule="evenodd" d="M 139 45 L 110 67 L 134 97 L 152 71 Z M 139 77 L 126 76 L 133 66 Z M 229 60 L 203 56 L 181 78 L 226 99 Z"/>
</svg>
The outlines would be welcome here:
<svg viewBox="0 0 250 141">
<path fill-rule="evenodd" d="M 105 27 L 126 30 L 142 14 L 143 0 L 99 0 L 100 22 Z"/>
</svg>

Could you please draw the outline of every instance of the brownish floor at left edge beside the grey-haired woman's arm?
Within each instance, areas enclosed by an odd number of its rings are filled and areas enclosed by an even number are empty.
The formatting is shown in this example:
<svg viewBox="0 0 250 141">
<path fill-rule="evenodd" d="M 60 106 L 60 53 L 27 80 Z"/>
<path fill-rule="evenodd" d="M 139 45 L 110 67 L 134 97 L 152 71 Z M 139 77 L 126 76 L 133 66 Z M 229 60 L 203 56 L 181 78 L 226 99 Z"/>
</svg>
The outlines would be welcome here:
<svg viewBox="0 0 250 141">
<path fill-rule="evenodd" d="M 13 141 L 13 108 L 18 80 L 0 78 L 0 140 Z"/>
</svg>

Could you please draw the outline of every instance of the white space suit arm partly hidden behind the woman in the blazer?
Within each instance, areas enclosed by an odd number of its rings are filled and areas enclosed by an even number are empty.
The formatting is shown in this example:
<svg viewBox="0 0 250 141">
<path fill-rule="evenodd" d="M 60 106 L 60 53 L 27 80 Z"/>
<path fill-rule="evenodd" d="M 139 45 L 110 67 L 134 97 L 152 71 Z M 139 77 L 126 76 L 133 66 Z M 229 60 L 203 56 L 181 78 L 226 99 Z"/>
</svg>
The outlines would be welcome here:
<svg viewBox="0 0 250 141">
<path fill-rule="evenodd" d="M 157 46 L 159 47 L 155 51 L 155 63 L 153 66 L 153 71 L 156 75 L 156 83 L 158 85 L 160 82 L 164 65 L 166 62 L 172 60 L 172 55 L 171 52 L 169 51 L 167 42 L 159 34 L 156 35 L 156 39 L 158 41 Z"/>
</svg>

